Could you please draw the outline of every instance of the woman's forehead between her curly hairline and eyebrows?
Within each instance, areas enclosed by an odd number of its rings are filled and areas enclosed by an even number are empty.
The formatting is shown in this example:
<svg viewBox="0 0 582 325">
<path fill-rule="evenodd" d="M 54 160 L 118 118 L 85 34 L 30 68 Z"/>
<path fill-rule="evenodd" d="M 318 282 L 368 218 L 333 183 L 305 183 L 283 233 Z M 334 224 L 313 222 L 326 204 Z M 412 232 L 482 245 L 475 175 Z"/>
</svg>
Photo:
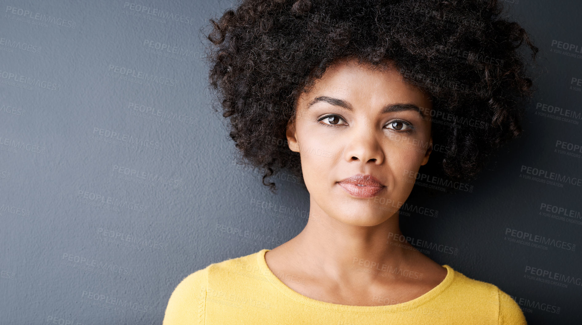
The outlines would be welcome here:
<svg viewBox="0 0 582 325">
<path fill-rule="evenodd" d="M 347 59 L 335 62 L 325 70 L 321 79 L 315 80 L 310 92 L 302 97 L 308 102 L 322 94 L 340 97 L 354 105 L 412 103 L 421 108 L 432 107 L 430 96 L 405 83 L 402 75 L 389 62 L 381 67 L 358 64 Z"/>
</svg>

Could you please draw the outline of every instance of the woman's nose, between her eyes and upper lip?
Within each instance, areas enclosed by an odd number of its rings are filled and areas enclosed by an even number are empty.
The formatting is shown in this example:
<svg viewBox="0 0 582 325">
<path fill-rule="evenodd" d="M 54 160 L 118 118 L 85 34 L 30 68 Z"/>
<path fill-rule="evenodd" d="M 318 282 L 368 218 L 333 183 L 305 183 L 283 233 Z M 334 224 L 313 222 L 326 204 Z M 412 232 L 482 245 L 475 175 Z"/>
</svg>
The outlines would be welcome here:
<svg viewBox="0 0 582 325">
<path fill-rule="evenodd" d="M 364 164 L 373 162 L 382 164 L 384 162 L 384 151 L 379 142 L 378 135 L 370 126 L 353 128 L 352 135 L 349 135 L 349 142 L 344 151 L 344 158 L 347 162 L 361 161 Z"/>
</svg>

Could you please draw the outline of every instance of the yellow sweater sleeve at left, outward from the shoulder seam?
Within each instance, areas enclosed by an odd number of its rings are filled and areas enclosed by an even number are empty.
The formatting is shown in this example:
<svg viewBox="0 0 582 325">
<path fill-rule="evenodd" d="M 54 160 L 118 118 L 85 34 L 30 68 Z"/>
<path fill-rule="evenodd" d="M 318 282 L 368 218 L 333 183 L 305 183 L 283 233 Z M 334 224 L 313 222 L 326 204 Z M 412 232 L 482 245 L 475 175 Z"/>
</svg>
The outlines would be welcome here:
<svg viewBox="0 0 582 325">
<path fill-rule="evenodd" d="M 162 325 L 203 325 L 208 267 L 188 275 L 172 292 Z"/>
</svg>

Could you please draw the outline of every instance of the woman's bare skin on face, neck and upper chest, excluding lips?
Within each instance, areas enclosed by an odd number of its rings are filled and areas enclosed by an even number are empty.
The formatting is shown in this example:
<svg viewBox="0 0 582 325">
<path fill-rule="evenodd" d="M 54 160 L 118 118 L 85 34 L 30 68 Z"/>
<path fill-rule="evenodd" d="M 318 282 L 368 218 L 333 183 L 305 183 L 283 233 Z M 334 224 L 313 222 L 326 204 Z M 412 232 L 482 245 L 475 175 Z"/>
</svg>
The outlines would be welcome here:
<svg viewBox="0 0 582 325">
<path fill-rule="evenodd" d="M 343 105 L 314 102 L 322 96 Z M 383 113 L 389 104 L 421 109 Z M 335 62 L 298 98 L 286 136 L 301 156 L 309 218 L 297 236 L 265 253 L 285 285 L 318 301 L 378 306 L 418 298 L 444 280 L 444 267 L 408 242 L 392 240 L 402 235 L 398 208 L 432 150 L 431 108 L 430 96 L 404 83 L 393 66 L 372 70 L 349 58 Z M 414 129 L 405 132 L 409 125 Z M 359 173 L 375 176 L 386 188 L 373 199 L 350 195 L 338 182 Z"/>
</svg>

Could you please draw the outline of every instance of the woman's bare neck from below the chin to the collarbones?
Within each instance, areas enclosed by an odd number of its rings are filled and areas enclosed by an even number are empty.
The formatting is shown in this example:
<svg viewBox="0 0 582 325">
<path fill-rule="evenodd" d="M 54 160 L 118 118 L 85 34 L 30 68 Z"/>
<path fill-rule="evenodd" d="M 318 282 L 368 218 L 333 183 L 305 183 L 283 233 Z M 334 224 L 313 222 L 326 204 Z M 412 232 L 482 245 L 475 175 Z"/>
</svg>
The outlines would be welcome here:
<svg viewBox="0 0 582 325">
<path fill-rule="evenodd" d="M 378 273 L 401 269 L 415 252 L 408 242 L 393 240 L 402 232 L 398 211 L 390 213 L 381 224 L 352 225 L 328 216 L 312 201 L 306 227 L 285 245 L 293 261 L 317 277 L 341 282 L 377 280 Z"/>
</svg>

